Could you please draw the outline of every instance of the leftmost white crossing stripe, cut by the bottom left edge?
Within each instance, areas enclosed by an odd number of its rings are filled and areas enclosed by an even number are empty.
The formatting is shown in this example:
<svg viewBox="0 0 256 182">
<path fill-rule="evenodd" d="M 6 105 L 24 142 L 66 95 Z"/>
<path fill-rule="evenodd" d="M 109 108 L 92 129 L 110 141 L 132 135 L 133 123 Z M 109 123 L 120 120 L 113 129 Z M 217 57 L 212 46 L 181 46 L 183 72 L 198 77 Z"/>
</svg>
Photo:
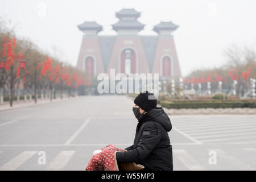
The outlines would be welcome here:
<svg viewBox="0 0 256 182">
<path fill-rule="evenodd" d="M 3 164 L 3 166 L 0 167 L 0 171 L 14 171 L 36 153 L 37 151 L 24 151 L 6 164 Z"/>
</svg>

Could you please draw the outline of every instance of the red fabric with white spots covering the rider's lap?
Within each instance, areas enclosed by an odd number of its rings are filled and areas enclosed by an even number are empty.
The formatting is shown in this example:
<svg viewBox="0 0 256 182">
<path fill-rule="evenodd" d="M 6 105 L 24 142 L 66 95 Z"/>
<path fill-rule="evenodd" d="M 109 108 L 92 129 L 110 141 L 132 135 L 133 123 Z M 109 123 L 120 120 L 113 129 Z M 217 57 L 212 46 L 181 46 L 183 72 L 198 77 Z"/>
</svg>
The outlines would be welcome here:
<svg viewBox="0 0 256 182">
<path fill-rule="evenodd" d="M 102 150 L 98 154 L 94 154 L 90 159 L 86 171 L 119 171 L 115 153 L 117 151 L 126 151 L 121 148 L 117 148 L 114 144 L 101 148 Z"/>
</svg>

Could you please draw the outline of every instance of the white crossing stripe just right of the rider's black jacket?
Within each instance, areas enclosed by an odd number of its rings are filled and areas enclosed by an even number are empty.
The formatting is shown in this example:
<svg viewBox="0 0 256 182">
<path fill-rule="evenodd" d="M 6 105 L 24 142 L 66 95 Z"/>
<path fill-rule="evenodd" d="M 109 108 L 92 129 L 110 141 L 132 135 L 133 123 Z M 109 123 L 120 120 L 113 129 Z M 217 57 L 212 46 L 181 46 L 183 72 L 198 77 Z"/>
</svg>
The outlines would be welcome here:
<svg viewBox="0 0 256 182">
<path fill-rule="evenodd" d="M 176 156 L 189 170 L 200 171 L 205 170 L 190 154 L 185 150 L 173 150 Z"/>
</svg>

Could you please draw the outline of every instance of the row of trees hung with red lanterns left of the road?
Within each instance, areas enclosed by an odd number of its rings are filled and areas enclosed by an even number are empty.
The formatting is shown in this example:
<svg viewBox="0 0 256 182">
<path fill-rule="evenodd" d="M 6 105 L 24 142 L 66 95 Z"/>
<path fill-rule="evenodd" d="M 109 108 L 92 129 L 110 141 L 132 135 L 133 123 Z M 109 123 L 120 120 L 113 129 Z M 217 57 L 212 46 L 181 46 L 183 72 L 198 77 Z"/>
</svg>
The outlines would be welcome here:
<svg viewBox="0 0 256 182">
<path fill-rule="evenodd" d="M 7 88 L 10 105 L 13 105 L 14 86 L 23 85 L 24 90 L 32 93 L 36 102 L 38 88 L 50 90 L 75 91 L 79 86 L 89 86 L 90 78 L 85 73 L 49 56 L 36 44 L 24 38 L 16 38 L 14 31 L 0 21 L 0 90 L 3 96 Z M 32 90 L 33 89 L 33 90 Z"/>
</svg>

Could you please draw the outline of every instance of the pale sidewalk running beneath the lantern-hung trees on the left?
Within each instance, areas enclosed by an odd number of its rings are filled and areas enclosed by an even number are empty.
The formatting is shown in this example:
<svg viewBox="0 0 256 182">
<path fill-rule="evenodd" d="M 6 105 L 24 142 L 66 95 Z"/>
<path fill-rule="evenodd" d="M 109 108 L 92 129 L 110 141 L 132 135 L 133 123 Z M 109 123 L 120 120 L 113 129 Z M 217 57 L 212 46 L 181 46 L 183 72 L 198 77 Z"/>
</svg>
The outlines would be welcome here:
<svg viewBox="0 0 256 182">
<path fill-rule="evenodd" d="M 14 101 L 13 102 L 13 107 L 10 106 L 10 102 L 4 102 L 4 104 L 0 104 L 0 111 L 4 111 L 4 110 L 10 110 L 10 109 L 18 109 L 18 108 L 22 108 L 22 107 L 31 107 L 31 106 L 36 106 L 36 105 L 41 105 L 41 104 L 48 104 L 48 103 L 51 103 L 51 102 L 57 102 L 57 101 L 64 101 L 64 100 L 71 100 L 71 99 L 75 99 L 79 96 L 76 96 L 76 97 L 64 97 L 62 98 L 62 100 L 60 98 L 56 98 L 52 101 L 50 101 L 49 99 L 45 99 L 45 100 L 41 100 L 41 99 L 38 99 L 36 101 L 36 104 L 35 104 L 35 101 L 34 100 L 27 100 L 26 102 L 25 101 Z"/>
</svg>

